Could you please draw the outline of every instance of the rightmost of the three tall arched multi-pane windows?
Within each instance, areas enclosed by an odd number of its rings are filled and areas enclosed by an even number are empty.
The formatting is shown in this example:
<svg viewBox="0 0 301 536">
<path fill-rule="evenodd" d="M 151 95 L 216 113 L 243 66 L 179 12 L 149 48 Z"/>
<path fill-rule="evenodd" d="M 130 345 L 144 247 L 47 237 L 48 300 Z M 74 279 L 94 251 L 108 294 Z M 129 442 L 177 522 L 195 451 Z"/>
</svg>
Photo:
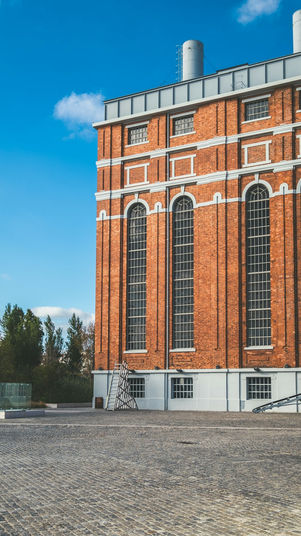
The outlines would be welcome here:
<svg viewBox="0 0 301 536">
<path fill-rule="evenodd" d="M 262 184 L 248 193 L 247 346 L 270 346 L 269 195 Z"/>
</svg>

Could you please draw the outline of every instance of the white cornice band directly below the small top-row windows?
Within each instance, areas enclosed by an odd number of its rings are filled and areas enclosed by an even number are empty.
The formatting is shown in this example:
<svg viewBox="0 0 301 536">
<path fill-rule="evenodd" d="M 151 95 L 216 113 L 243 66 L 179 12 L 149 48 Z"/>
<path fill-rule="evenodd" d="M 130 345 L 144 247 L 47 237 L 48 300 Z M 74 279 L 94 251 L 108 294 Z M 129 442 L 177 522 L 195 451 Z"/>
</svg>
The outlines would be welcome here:
<svg viewBox="0 0 301 536">
<path fill-rule="evenodd" d="M 176 145 L 175 147 L 155 149 L 154 151 L 148 151 L 145 153 L 129 154 L 124 157 L 98 160 L 96 162 L 96 167 L 102 168 L 107 166 L 120 166 L 123 162 L 129 162 L 131 160 L 165 157 L 168 153 L 178 153 L 181 151 L 190 151 L 193 149 L 200 150 L 208 147 L 214 147 L 216 145 L 228 145 L 231 143 L 237 143 L 239 139 L 252 139 L 257 138 L 258 136 L 265 136 L 268 134 L 276 136 L 277 134 L 284 134 L 285 132 L 293 132 L 296 128 L 301 128 L 301 121 L 298 123 L 271 126 L 268 129 L 253 130 L 252 132 L 241 132 L 240 134 L 233 134 L 231 136 L 215 136 L 214 138 L 209 138 L 199 142 L 187 143 L 186 145 Z"/>
</svg>

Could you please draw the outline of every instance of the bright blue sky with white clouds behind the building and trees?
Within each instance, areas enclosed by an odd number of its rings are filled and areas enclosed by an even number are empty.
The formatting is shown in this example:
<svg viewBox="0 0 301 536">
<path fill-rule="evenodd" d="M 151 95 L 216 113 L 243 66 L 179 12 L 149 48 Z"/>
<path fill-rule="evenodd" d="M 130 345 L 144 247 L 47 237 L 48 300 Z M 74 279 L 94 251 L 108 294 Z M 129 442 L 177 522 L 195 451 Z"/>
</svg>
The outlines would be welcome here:
<svg viewBox="0 0 301 536">
<path fill-rule="evenodd" d="M 96 131 L 102 98 L 176 80 L 176 45 L 214 69 L 292 53 L 301 0 L 1 0 L 0 316 L 66 325 L 95 310 Z M 281 41 L 281 42 L 280 42 Z M 280 42 L 280 43 L 279 43 Z M 205 60 L 205 74 L 214 72 Z"/>
</svg>

